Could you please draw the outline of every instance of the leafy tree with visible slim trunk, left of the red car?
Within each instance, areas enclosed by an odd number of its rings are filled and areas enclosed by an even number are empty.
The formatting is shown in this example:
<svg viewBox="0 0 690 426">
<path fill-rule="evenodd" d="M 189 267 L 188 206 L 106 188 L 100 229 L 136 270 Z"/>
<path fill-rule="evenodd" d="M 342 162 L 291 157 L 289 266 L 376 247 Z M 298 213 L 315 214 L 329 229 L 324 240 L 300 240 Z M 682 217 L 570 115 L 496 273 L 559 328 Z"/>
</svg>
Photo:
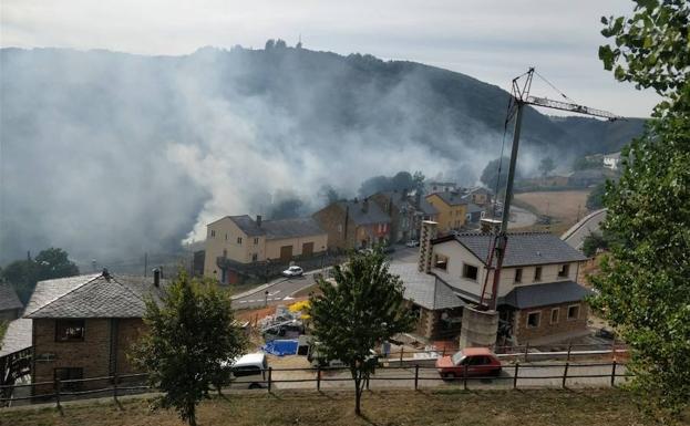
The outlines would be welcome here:
<svg viewBox="0 0 690 426">
<path fill-rule="evenodd" d="M 342 361 L 354 381 L 354 413 L 375 359 L 370 351 L 398 333 L 410 331 L 414 316 L 405 306 L 402 281 L 389 272 L 381 250 L 351 253 L 333 268 L 336 285 L 319 280 L 322 294 L 311 295 L 309 314 L 320 353 Z"/>
</svg>

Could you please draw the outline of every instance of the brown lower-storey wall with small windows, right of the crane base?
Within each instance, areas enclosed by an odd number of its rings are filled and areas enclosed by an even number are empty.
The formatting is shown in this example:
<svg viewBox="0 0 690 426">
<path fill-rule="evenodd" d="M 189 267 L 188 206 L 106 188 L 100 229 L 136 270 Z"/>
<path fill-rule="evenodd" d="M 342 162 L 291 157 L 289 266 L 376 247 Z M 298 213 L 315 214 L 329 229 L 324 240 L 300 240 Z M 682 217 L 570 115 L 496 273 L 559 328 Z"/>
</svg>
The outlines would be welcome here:
<svg viewBox="0 0 690 426">
<path fill-rule="evenodd" d="M 578 304 L 579 314 L 575 320 L 568 320 L 568 306 Z M 552 311 L 558 309 L 558 321 L 552 324 Z M 536 328 L 527 326 L 527 316 L 532 312 L 540 312 L 539 325 Z M 584 332 L 587 330 L 587 316 L 589 308 L 584 302 L 570 302 L 554 304 L 548 306 L 538 306 L 534 309 L 525 309 L 515 312 L 513 323 L 513 335 L 516 344 L 525 344 L 529 341 L 558 334 Z"/>
</svg>

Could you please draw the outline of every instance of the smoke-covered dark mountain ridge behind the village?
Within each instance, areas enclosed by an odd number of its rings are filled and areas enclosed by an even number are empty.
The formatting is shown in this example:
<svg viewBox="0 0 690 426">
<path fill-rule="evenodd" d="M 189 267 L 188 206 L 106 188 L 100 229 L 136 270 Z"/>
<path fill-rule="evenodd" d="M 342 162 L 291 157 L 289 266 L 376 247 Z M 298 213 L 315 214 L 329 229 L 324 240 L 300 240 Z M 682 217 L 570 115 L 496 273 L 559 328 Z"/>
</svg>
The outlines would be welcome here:
<svg viewBox="0 0 690 426">
<path fill-rule="evenodd" d="M 371 55 L 204 48 L 183 56 L 2 49 L 0 262 L 163 251 L 216 215 L 261 214 L 401 169 L 476 181 L 508 93 Z M 620 149 L 642 120 L 527 108 L 521 163 Z"/>
</svg>

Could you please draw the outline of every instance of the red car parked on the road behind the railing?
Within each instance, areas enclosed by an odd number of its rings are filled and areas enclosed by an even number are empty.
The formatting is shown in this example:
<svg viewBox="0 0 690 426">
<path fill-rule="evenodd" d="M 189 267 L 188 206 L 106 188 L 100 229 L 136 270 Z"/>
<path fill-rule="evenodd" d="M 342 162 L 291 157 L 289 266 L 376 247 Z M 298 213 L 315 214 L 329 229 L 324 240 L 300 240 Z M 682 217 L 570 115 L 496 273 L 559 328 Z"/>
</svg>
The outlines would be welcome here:
<svg viewBox="0 0 690 426">
<path fill-rule="evenodd" d="M 486 347 L 465 347 L 453 356 L 436 360 L 436 370 L 441 377 L 463 377 L 467 366 L 467 376 L 486 377 L 501 374 L 501 361 Z"/>
</svg>

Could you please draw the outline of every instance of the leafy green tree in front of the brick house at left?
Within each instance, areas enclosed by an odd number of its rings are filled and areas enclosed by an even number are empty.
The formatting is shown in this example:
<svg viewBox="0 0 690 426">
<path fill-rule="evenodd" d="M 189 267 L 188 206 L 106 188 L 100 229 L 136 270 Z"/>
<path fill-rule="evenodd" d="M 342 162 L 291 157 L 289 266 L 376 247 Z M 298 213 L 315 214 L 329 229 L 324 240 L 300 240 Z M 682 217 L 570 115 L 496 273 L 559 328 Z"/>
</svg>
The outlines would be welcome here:
<svg viewBox="0 0 690 426">
<path fill-rule="evenodd" d="M 209 280 L 189 280 L 181 271 L 162 303 L 146 301 L 148 333 L 133 350 L 133 359 L 148 381 L 163 392 L 156 406 L 174 407 L 196 425 L 196 405 L 210 385 L 228 384 L 227 363 L 243 354 L 246 340 L 234 325 L 231 300 Z"/>
</svg>

